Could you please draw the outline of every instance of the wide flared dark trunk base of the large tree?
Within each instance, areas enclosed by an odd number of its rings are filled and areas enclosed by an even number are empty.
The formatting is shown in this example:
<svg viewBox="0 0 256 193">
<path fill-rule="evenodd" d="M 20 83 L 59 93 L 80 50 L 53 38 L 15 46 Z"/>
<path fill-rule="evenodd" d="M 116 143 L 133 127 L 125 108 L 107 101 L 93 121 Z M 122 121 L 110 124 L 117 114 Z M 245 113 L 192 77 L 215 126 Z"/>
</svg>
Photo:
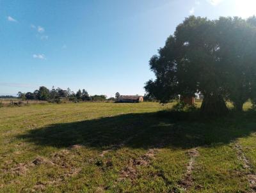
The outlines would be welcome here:
<svg viewBox="0 0 256 193">
<path fill-rule="evenodd" d="M 221 95 L 211 93 L 204 96 L 200 111 L 204 116 L 225 116 L 228 108 Z"/>
</svg>

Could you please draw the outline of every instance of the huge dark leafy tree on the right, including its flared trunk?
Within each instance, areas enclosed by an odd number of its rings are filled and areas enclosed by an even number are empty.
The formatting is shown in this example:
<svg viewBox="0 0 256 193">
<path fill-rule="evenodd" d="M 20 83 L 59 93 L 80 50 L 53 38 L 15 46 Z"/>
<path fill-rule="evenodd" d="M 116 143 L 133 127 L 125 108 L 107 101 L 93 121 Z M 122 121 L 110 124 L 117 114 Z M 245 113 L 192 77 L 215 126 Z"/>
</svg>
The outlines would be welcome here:
<svg viewBox="0 0 256 193">
<path fill-rule="evenodd" d="M 150 59 L 156 80 L 148 81 L 145 90 L 163 103 L 177 95 L 201 93 L 201 110 L 209 114 L 227 112 L 223 99 L 241 111 L 255 95 L 255 21 L 255 17 L 185 19 Z"/>
</svg>

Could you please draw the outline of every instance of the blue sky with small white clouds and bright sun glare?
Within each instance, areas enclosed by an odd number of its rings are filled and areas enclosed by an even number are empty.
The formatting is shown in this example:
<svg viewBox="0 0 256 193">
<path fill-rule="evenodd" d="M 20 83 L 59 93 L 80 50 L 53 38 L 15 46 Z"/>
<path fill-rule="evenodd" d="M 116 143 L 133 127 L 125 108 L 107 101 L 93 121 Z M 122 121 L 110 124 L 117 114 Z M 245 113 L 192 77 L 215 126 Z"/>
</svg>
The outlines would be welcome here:
<svg viewBox="0 0 256 193">
<path fill-rule="evenodd" d="M 256 0 L 0 0 L 0 95 L 143 95 L 148 60 L 185 17 L 255 13 Z"/>
</svg>

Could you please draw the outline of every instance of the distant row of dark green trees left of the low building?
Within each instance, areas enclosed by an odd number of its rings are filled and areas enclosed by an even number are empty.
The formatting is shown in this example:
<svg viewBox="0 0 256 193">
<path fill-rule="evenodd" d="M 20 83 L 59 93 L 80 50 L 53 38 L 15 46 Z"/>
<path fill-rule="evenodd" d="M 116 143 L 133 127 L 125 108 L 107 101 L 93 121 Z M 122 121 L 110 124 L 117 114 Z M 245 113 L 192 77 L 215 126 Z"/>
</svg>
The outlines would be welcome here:
<svg viewBox="0 0 256 193">
<path fill-rule="evenodd" d="M 76 93 L 67 88 L 67 90 L 61 88 L 48 89 L 45 86 L 40 86 L 39 89 L 33 91 L 33 93 L 22 93 L 17 94 L 18 98 L 22 100 L 45 100 L 49 102 L 61 102 L 61 98 L 67 98 L 69 101 L 79 102 L 79 101 L 104 101 L 107 100 L 106 95 L 92 95 L 89 96 L 88 92 L 83 89 L 79 89 Z"/>
</svg>

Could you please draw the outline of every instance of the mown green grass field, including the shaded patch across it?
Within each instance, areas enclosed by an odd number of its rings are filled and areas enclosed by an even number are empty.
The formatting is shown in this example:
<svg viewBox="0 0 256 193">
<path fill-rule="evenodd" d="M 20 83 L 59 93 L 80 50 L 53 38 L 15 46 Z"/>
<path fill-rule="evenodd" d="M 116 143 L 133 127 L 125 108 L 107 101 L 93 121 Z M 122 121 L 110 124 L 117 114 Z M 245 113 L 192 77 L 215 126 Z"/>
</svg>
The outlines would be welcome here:
<svg viewBox="0 0 256 193">
<path fill-rule="evenodd" d="M 250 104 L 215 120 L 159 112 L 172 105 L 1 108 L 0 192 L 255 191 Z"/>
</svg>

